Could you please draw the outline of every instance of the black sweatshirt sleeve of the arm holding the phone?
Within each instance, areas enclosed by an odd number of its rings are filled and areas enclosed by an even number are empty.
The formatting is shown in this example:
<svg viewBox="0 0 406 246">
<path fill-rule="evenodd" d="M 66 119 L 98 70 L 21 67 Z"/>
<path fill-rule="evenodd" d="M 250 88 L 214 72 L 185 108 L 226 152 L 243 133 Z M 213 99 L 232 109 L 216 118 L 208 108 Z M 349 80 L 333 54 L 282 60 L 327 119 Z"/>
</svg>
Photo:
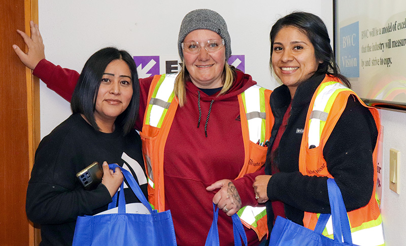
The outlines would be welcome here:
<svg viewBox="0 0 406 246">
<path fill-rule="evenodd" d="M 78 163 L 83 163 L 81 148 L 54 135 L 40 143 L 27 188 L 27 217 L 39 224 L 75 221 L 77 216 L 92 215 L 112 201 L 103 184 L 84 190 L 76 178 L 81 170 Z"/>
</svg>

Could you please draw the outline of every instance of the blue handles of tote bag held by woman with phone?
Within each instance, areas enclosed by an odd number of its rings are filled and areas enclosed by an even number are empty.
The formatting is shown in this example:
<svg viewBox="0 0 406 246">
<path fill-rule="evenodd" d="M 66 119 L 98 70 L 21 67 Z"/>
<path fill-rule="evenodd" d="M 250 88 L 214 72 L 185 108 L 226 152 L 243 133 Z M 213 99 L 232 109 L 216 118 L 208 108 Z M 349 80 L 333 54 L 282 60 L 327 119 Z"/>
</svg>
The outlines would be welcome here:
<svg viewBox="0 0 406 246">
<path fill-rule="evenodd" d="M 134 177 L 131 175 L 130 172 L 127 170 L 121 168 L 117 164 L 109 164 L 109 168 L 111 170 L 115 170 L 115 168 L 120 168 L 121 172 L 123 173 L 123 176 L 125 180 L 127 181 L 128 187 L 131 188 L 131 190 L 134 192 L 134 194 L 137 196 L 137 198 L 144 204 L 144 206 L 148 209 L 148 211 L 152 214 L 154 211 L 151 208 L 151 205 L 147 201 L 147 198 L 145 198 L 144 193 L 142 192 L 140 185 L 137 184 L 137 181 L 134 179 Z M 120 193 L 119 193 L 120 192 Z M 125 196 L 124 196 L 124 180 L 121 183 L 120 190 L 116 192 L 113 196 L 113 201 L 109 203 L 108 209 L 113 209 L 116 207 L 117 204 L 117 194 L 119 193 L 118 196 L 118 213 L 119 214 L 124 214 L 125 213 Z"/>
</svg>

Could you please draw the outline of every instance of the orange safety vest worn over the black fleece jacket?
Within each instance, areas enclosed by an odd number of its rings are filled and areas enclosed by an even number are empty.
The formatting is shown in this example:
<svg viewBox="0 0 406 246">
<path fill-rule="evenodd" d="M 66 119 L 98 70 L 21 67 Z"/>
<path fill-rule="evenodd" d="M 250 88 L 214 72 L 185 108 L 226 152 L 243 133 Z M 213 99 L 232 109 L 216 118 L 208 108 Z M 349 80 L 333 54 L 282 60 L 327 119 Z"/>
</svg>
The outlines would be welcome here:
<svg viewBox="0 0 406 246">
<path fill-rule="evenodd" d="M 353 95 L 364 107 L 369 109 L 380 133 L 381 124 L 378 110 L 365 105 L 352 90 L 341 84 L 338 78 L 326 75 L 313 95 L 309 106 L 299 153 L 299 171 L 301 174 L 333 178 L 327 171 L 326 160 L 323 157 L 323 148 L 335 124 L 346 108 L 350 95 Z M 309 148 L 311 145 L 314 146 Z M 369 203 L 360 209 L 348 212 L 353 243 L 358 245 L 385 244 L 382 218 L 375 192 L 377 184 L 377 147 L 378 144 L 376 144 L 373 152 L 374 190 Z M 305 212 L 303 225 L 314 230 L 317 220 L 317 214 Z M 323 234 L 332 236 L 332 229 L 325 228 Z"/>
</svg>

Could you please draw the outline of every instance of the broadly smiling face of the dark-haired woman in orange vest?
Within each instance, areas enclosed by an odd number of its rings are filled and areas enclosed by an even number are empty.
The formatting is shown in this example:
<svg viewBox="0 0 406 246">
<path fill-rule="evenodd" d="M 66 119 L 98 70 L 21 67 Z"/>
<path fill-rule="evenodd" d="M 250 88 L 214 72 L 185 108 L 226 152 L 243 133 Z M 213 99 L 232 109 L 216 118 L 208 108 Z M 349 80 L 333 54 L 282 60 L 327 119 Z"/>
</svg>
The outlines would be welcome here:
<svg viewBox="0 0 406 246">
<path fill-rule="evenodd" d="M 293 26 L 283 27 L 275 36 L 272 68 L 293 98 L 297 87 L 310 78 L 320 64 L 306 34 Z"/>
</svg>

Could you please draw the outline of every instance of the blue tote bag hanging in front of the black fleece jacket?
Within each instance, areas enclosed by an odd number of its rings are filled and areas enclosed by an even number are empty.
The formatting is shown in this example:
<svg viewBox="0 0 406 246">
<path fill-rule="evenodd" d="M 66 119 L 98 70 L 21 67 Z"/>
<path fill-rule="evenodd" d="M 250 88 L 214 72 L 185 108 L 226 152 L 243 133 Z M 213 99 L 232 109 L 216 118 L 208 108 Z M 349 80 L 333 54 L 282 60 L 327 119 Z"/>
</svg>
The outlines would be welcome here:
<svg viewBox="0 0 406 246">
<path fill-rule="evenodd" d="M 328 179 L 327 187 L 334 239 L 322 234 L 330 214 L 320 215 L 314 231 L 278 216 L 270 233 L 269 246 L 357 246 L 352 243 L 350 223 L 339 186 L 334 179 Z"/>
</svg>

